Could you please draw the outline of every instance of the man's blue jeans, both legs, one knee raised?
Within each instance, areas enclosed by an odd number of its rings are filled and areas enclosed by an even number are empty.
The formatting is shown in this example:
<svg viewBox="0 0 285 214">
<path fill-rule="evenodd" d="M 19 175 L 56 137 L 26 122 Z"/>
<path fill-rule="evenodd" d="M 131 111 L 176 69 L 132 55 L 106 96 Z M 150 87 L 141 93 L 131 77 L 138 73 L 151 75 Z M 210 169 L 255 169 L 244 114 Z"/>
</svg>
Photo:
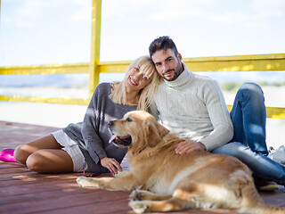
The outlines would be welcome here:
<svg viewBox="0 0 285 214">
<path fill-rule="evenodd" d="M 248 165 L 254 176 L 285 185 L 285 166 L 267 157 L 265 97 L 260 86 L 240 86 L 231 111 L 234 136 L 213 153 L 232 155 Z"/>
</svg>

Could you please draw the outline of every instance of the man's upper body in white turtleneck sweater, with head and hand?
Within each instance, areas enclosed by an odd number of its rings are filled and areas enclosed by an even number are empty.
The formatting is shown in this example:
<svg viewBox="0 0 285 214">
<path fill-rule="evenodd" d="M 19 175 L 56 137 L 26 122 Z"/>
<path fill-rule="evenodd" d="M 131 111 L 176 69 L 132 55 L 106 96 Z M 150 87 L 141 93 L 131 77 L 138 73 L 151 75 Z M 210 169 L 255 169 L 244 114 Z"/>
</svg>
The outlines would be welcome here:
<svg viewBox="0 0 285 214">
<path fill-rule="evenodd" d="M 228 143 L 233 136 L 232 120 L 217 83 L 191 73 L 169 37 L 153 42 L 150 54 L 164 78 L 152 113 L 159 114 L 171 132 L 189 139 L 179 144 L 176 152 L 212 151 Z"/>
</svg>

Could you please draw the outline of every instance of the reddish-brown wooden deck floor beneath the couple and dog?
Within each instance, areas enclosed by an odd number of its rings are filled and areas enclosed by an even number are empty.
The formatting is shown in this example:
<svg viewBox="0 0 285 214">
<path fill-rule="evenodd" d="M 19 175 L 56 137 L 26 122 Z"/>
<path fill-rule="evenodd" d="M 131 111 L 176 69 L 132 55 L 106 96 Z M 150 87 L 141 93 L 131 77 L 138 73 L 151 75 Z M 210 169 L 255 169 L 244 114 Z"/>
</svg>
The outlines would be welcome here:
<svg viewBox="0 0 285 214">
<path fill-rule="evenodd" d="M 59 128 L 0 121 L 0 150 L 15 148 Z M 0 161 L 0 213 L 134 213 L 128 194 L 80 188 L 80 173 L 38 174 L 19 163 Z M 110 175 L 105 175 L 110 176 Z M 260 193 L 267 204 L 285 207 L 284 188 Z M 171 213 L 237 213 L 232 210 L 184 210 Z"/>
</svg>

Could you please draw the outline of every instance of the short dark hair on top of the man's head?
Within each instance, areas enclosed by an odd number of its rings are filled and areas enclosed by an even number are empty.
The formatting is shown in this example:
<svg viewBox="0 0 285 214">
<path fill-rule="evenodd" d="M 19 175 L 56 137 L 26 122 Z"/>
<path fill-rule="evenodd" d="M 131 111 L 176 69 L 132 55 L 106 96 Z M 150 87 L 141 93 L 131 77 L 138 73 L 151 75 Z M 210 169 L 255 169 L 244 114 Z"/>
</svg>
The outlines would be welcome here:
<svg viewBox="0 0 285 214">
<path fill-rule="evenodd" d="M 176 45 L 170 37 L 158 37 L 154 39 L 153 42 L 151 42 L 151 45 L 149 47 L 150 56 L 152 56 L 152 54 L 156 53 L 157 51 L 167 49 L 171 49 L 175 53 L 175 55 L 177 55 L 178 53 Z"/>
</svg>

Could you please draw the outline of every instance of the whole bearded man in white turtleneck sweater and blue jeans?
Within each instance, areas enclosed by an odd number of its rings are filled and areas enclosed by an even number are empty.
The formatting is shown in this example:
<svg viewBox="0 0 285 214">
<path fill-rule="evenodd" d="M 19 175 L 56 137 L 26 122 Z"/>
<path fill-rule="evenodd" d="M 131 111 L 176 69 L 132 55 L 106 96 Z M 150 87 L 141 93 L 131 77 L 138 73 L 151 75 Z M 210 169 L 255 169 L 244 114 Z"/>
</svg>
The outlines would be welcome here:
<svg viewBox="0 0 285 214">
<path fill-rule="evenodd" d="M 170 132 L 187 139 L 177 145 L 177 154 L 200 149 L 229 154 L 246 163 L 256 177 L 285 185 L 285 167 L 266 157 L 266 112 L 259 86 L 240 87 L 230 116 L 216 81 L 188 70 L 170 37 L 155 39 L 149 51 L 163 78 L 151 113 Z"/>
</svg>

